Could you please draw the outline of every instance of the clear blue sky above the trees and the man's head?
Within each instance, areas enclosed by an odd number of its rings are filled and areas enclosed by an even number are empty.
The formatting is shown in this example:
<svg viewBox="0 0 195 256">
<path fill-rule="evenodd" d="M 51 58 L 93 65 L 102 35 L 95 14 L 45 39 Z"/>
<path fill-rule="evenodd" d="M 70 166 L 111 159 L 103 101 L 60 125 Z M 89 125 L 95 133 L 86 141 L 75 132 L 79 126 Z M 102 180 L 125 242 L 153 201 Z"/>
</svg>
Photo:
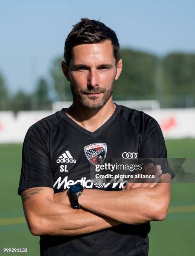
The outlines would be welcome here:
<svg viewBox="0 0 195 256">
<path fill-rule="evenodd" d="M 0 71 L 11 93 L 31 92 L 82 17 L 112 28 L 121 47 L 195 52 L 194 10 L 193 0 L 1 0 Z"/>
</svg>

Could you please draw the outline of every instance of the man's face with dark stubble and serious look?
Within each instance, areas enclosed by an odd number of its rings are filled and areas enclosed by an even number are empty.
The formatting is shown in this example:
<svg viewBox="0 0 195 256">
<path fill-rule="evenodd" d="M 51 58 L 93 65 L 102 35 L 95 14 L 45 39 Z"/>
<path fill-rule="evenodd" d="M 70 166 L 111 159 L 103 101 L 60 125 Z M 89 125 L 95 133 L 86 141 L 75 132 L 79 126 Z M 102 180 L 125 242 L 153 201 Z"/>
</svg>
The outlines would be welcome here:
<svg viewBox="0 0 195 256">
<path fill-rule="evenodd" d="M 68 71 L 73 97 L 86 108 L 101 108 L 112 96 L 120 66 L 122 60 L 116 66 L 110 40 L 73 47 Z"/>
</svg>

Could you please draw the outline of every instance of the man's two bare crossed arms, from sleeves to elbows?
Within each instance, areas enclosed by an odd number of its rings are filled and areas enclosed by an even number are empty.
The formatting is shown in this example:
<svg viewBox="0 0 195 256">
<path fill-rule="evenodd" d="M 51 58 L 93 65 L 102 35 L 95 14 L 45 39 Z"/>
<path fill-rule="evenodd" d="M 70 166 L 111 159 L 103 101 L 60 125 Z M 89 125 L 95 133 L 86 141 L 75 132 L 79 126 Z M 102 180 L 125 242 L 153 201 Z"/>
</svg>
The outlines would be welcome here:
<svg viewBox="0 0 195 256">
<path fill-rule="evenodd" d="M 23 209 L 35 236 L 75 236 L 121 223 L 163 220 L 170 203 L 170 174 L 161 179 L 166 183 L 130 183 L 121 191 L 84 189 L 79 210 L 70 207 L 67 191 L 53 194 L 49 187 L 30 188 L 22 192 Z"/>
</svg>

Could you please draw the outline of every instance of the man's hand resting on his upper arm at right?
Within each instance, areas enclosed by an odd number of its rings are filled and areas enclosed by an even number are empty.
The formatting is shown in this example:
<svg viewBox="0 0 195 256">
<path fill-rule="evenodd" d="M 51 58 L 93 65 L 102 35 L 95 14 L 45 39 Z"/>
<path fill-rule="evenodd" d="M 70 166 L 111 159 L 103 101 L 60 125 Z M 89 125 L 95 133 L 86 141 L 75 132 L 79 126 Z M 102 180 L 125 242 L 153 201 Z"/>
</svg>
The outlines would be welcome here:
<svg viewBox="0 0 195 256">
<path fill-rule="evenodd" d="M 158 184 L 158 177 L 162 174 L 161 166 L 160 165 L 154 165 L 153 163 L 146 164 L 143 166 L 144 172 L 147 175 L 154 175 L 154 179 L 145 179 L 142 183 L 140 183 L 140 179 L 130 179 L 128 183 L 123 187 L 122 190 L 126 189 L 132 189 L 136 187 L 155 187 L 156 184 Z M 139 172 L 136 172 L 135 175 L 139 174 Z M 139 183 L 138 183 L 139 181 Z"/>
</svg>

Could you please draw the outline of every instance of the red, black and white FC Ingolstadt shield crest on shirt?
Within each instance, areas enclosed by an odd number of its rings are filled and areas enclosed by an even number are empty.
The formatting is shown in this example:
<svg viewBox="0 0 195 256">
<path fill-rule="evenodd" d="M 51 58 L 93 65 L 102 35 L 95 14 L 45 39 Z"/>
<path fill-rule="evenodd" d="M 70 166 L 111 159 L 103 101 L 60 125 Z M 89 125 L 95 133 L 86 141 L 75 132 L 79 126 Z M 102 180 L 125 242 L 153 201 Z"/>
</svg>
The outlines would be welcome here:
<svg viewBox="0 0 195 256">
<path fill-rule="evenodd" d="M 102 164 L 106 157 L 106 143 L 93 143 L 84 147 L 85 155 L 91 164 Z"/>
</svg>

